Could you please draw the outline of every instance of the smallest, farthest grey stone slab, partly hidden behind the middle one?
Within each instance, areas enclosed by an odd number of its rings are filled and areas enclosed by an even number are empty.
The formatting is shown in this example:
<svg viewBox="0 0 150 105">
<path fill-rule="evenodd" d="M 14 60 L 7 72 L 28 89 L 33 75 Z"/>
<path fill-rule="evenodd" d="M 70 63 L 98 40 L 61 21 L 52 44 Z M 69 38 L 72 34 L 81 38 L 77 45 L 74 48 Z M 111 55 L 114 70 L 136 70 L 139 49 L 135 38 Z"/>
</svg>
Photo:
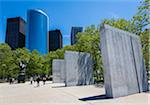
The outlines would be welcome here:
<svg viewBox="0 0 150 105">
<path fill-rule="evenodd" d="M 62 59 L 54 59 L 52 62 L 53 83 L 65 82 L 65 64 Z"/>
</svg>

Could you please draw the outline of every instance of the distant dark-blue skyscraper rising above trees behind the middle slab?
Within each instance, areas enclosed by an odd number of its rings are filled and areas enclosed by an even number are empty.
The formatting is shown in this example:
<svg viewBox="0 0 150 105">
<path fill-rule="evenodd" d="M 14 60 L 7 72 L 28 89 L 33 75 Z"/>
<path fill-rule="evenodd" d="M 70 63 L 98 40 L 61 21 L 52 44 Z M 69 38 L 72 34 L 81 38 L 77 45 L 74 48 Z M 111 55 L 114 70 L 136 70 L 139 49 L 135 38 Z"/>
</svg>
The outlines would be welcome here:
<svg viewBox="0 0 150 105">
<path fill-rule="evenodd" d="M 71 45 L 75 44 L 77 39 L 76 35 L 78 32 L 82 32 L 83 28 L 82 27 L 72 27 L 71 28 Z"/>
</svg>

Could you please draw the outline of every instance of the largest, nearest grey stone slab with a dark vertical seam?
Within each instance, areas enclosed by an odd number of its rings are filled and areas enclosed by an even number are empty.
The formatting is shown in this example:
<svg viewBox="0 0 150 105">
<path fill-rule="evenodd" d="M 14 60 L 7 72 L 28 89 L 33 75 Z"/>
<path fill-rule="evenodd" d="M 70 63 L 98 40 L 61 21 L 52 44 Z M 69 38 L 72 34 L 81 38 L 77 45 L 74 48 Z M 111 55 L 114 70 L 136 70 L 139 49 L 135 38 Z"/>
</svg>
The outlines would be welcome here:
<svg viewBox="0 0 150 105">
<path fill-rule="evenodd" d="M 148 90 L 141 42 L 137 35 L 104 25 L 100 31 L 107 97 Z"/>
</svg>

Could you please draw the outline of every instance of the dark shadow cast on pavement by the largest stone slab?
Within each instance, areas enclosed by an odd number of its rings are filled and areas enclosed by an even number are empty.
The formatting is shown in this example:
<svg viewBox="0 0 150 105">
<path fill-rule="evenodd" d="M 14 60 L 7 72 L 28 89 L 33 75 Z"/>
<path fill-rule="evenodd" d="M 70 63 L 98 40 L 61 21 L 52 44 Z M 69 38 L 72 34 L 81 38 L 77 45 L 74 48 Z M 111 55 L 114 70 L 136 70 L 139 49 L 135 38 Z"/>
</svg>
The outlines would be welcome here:
<svg viewBox="0 0 150 105">
<path fill-rule="evenodd" d="M 106 95 L 104 94 L 104 95 L 80 98 L 79 100 L 81 100 L 81 101 L 94 101 L 94 100 L 106 100 L 106 99 L 112 99 L 112 98 L 106 97 Z"/>
</svg>

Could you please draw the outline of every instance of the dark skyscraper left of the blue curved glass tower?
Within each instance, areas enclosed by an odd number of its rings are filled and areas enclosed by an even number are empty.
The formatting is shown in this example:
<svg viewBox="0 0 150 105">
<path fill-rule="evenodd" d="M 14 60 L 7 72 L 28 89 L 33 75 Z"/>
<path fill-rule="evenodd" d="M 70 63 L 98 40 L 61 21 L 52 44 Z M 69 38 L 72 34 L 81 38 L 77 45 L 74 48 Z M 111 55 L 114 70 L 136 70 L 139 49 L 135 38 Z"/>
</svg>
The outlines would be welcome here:
<svg viewBox="0 0 150 105">
<path fill-rule="evenodd" d="M 21 17 L 8 18 L 5 42 L 14 50 L 25 47 L 26 22 Z"/>
</svg>

